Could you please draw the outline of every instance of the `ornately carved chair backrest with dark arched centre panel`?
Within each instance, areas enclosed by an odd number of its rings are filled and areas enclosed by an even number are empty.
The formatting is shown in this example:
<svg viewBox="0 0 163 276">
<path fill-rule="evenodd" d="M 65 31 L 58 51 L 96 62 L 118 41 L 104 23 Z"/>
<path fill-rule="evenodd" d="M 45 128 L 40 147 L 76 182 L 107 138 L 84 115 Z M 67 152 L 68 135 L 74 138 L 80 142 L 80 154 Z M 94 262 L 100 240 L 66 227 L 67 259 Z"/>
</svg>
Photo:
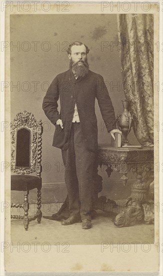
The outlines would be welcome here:
<svg viewBox="0 0 163 276">
<path fill-rule="evenodd" d="M 17 113 L 11 122 L 11 172 L 41 177 L 42 122 L 32 113 Z"/>
</svg>

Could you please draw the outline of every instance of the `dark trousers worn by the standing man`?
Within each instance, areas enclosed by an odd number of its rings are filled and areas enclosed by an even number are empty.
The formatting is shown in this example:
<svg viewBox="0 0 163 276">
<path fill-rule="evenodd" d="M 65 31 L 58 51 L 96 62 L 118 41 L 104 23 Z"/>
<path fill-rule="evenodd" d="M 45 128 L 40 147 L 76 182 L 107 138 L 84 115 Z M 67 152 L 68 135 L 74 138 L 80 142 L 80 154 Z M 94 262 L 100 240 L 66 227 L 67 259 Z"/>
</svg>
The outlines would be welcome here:
<svg viewBox="0 0 163 276">
<path fill-rule="evenodd" d="M 79 122 L 72 122 L 68 149 L 61 151 L 65 166 L 70 216 L 90 218 L 95 152 L 86 149 Z"/>
</svg>

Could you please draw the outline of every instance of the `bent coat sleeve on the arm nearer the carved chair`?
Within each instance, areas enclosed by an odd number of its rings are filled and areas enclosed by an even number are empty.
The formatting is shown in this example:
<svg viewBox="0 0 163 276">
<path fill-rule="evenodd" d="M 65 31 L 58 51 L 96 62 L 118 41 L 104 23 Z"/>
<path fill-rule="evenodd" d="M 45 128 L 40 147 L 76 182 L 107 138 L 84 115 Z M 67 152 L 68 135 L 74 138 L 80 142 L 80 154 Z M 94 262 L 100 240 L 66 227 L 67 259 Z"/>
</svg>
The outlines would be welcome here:
<svg viewBox="0 0 163 276">
<path fill-rule="evenodd" d="M 58 88 L 58 79 L 56 76 L 51 82 L 50 86 L 48 87 L 42 103 L 42 108 L 45 115 L 53 124 L 55 124 L 56 121 L 60 119 L 60 114 L 57 110 L 58 99 L 59 99 L 59 88 Z"/>
</svg>

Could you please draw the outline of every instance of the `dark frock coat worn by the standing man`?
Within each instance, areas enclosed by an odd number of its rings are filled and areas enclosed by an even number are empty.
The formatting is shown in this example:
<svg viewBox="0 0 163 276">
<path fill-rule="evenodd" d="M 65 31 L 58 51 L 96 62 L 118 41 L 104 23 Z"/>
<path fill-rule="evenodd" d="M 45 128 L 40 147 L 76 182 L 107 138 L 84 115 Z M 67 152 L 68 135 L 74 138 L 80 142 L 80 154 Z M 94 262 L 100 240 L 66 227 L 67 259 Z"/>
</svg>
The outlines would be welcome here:
<svg viewBox="0 0 163 276">
<path fill-rule="evenodd" d="M 85 77 L 75 79 L 69 69 L 53 79 L 42 104 L 45 115 L 55 125 L 52 146 L 63 151 L 67 150 L 76 102 L 84 144 L 90 151 L 97 150 L 95 98 L 98 101 L 103 121 L 109 132 L 115 128 L 115 115 L 102 76 L 89 70 Z M 60 100 L 60 112 L 57 110 L 58 99 Z M 63 129 L 60 125 L 56 125 L 59 118 L 63 122 Z"/>
</svg>

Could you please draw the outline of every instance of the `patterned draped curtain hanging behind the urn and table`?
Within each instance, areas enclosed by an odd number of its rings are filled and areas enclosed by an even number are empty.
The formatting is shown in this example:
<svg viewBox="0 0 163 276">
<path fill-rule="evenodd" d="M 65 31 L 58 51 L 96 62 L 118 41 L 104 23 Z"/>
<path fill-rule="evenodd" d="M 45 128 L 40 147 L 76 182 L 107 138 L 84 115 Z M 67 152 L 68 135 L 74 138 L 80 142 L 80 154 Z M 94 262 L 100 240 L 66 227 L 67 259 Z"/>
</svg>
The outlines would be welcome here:
<svg viewBox="0 0 163 276">
<path fill-rule="evenodd" d="M 121 73 L 133 131 L 143 146 L 153 146 L 153 16 L 117 15 Z"/>
</svg>

